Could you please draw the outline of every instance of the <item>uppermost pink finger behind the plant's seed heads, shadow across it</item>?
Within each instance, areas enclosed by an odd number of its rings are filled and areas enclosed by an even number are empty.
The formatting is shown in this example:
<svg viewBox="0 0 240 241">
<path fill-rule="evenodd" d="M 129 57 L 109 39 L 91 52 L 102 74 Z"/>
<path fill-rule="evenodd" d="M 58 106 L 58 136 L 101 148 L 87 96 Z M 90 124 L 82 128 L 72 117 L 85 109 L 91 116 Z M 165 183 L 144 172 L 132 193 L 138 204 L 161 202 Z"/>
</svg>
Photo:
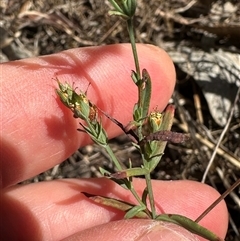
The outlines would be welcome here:
<svg viewBox="0 0 240 241">
<path fill-rule="evenodd" d="M 151 106 L 162 110 L 175 84 L 175 72 L 168 55 L 157 47 L 138 46 L 141 68 L 152 76 Z M 124 125 L 132 119 L 137 89 L 130 78 L 134 69 L 130 45 L 73 49 L 54 55 L 3 64 L 2 158 L 3 186 L 43 172 L 89 143 L 79 133 L 78 120 L 56 96 L 57 76 L 85 91 L 93 103 Z M 109 136 L 120 130 L 103 120 Z"/>
</svg>

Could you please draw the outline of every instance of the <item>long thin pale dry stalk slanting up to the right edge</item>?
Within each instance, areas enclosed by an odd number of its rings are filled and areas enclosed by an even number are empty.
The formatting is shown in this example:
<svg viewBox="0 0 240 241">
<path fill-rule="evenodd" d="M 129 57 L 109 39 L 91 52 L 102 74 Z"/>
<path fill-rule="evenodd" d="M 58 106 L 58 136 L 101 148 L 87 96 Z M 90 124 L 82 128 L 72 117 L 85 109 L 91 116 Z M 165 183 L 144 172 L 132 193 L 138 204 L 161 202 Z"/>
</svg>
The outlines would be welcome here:
<svg viewBox="0 0 240 241">
<path fill-rule="evenodd" d="M 230 112 L 230 115 L 229 115 L 227 124 L 225 125 L 225 127 L 224 127 L 224 129 L 223 129 L 223 132 L 222 132 L 222 134 L 220 135 L 220 138 L 219 138 L 219 140 L 218 140 L 218 142 L 217 142 L 217 145 L 216 145 L 215 148 L 214 148 L 212 157 L 211 157 L 211 159 L 210 159 L 210 161 L 209 161 L 209 163 L 208 163 L 208 165 L 207 165 L 207 168 L 206 168 L 206 170 L 205 170 L 205 172 L 204 172 L 204 174 L 203 174 L 202 183 L 204 183 L 205 180 L 206 180 L 207 174 L 208 174 L 208 172 L 209 172 L 209 170 L 210 170 L 210 168 L 211 168 L 211 166 L 212 166 L 212 164 L 213 164 L 214 158 L 215 158 L 215 156 L 216 156 L 216 154 L 217 154 L 217 150 L 218 150 L 218 148 L 219 148 L 219 146 L 220 146 L 220 144 L 221 144 L 221 142 L 222 142 L 222 139 L 223 139 L 225 133 L 226 133 L 227 130 L 228 130 L 228 127 L 229 127 L 230 122 L 231 122 L 232 117 L 233 117 L 234 106 L 237 105 L 237 102 L 238 102 L 238 99 L 239 99 L 239 94 L 240 94 L 240 86 L 238 87 L 238 91 L 237 91 L 237 94 L 236 94 L 236 97 L 235 97 L 235 100 L 234 100 L 234 103 L 233 103 L 233 106 L 232 106 L 232 109 L 231 109 L 231 112 Z"/>
</svg>

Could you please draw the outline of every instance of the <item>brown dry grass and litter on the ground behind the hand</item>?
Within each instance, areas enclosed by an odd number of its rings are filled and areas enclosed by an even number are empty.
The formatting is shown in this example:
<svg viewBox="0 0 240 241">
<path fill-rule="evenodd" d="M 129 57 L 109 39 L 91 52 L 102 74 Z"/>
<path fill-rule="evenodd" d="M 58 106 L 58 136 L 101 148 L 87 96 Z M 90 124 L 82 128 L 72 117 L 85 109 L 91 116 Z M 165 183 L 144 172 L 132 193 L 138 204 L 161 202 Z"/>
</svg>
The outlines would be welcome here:
<svg viewBox="0 0 240 241">
<path fill-rule="evenodd" d="M 210 49 L 221 49 L 239 54 L 238 0 L 227 1 L 229 5 L 220 0 L 138 2 L 135 19 L 138 42 L 153 43 L 174 53 L 178 52 L 179 48 L 188 48 L 190 51 L 200 49 L 204 53 L 209 53 Z M 189 2 L 195 4 L 189 5 Z M 0 27 L 2 61 L 51 54 L 69 48 L 128 42 L 125 25 L 117 18 L 109 18 L 107 10 L 106 0 L 3 0 L 0 2 L 3 15 Z M 231 119 L 227 118 L 229 126 L 216 148 L 224 126 L 215 122 L 204 92 L 194 75 L 184 72 L 177 58 L 174 62 L 178 83 L 173 97 L 177 106 L 173 129 L 188 132 L 192 138 L 184 145 L 168 145 L 162 162 L 153 173 L 153 178 L 201 181 L 215 151 L 216 155 L 207 173 L 206 182 L 223 193 L 240 178 L 239 113 L 235 113 Z M 234 76 L 234 88 L 237 90 L 239 68 L 236 71 L 238 74 Z M 229 74 L 231 73 L 229 71 Z M 239 106 L 239 103 L 238 100 L 235 106 Z M 112 140 L 111 145 L 124 165 L 127 166 L 129 158 L 134 165 L 139 165 L 139 155 L 126 137 Z M 61 165 L 30 181 L 96 177 L 100 176 L 99 166 L 114 171 L 104 150 L 95 145 L 87 146 L 78 150 Z M 226 198 L 230 213 L 227 241 L 240 240 L 239 200 L 239 188 Z"/>
</svg>

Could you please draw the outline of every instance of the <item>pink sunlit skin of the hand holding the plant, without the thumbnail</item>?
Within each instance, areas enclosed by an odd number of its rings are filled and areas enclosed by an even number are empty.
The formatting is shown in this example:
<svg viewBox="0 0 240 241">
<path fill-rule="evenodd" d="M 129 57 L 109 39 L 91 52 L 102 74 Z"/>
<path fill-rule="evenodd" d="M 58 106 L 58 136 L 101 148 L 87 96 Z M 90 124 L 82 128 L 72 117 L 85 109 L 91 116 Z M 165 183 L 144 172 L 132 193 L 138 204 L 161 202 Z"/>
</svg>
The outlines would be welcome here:
<svg viewBox="0 0 240 241">
<path fill-rule="evenodd" d="M 141 68 L 146 68 L 152 78 L 151 108 L 163 110 L 175 85 L 173 63 L 157 47 L 139 45 L 138 53 Z M 122 220 L 122 212 L 97 205 L 81 193 L 135 202 L 129 192 L 106 178 L 16 185 L 90 143 L 85 134 L 76 131 L 79 121 L 57 98 L 54 78 L 74 83 L 83 91 L 90 82 L 89 99 L 127 125 L 137 98 L 131 69 L 134 63 L 129 45 L 73 49 L 1 64 L 3 240 L 169 240 L 166 234 L 178 229 L 169 231 L 165 223 L 152 220 Z M 109 120 L 103 120 L 103 125 L 110 138 L 121 133 Z M 135 179 L 134 185 L 139 193 L 145 187 L 141 179 Z M 211 187 L 192 181 L 153 181 L 153 189 L 159 213 L 192 219 L 219 197 Z M 224 238 L 225 203 L 221 202 L 200 223 Z M 189 234 L 185 232 L 182 229 L 178 234 L 184 233 L 187 240 Z"/>
</svg>

